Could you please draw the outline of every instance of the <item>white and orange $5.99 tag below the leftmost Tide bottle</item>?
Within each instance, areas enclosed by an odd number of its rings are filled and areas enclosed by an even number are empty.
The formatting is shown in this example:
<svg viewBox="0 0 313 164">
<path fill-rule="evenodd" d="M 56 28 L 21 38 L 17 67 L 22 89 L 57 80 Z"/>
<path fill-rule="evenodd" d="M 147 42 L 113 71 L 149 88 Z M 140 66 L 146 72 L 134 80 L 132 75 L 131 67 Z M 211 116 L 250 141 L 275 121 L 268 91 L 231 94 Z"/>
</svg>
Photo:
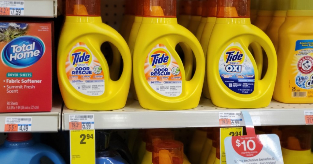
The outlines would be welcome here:
<svg viewBox="0 0 313 164">
<path fill-rule="evenodd" d="M 69 115 L 69 130 L 95 129 L 95 116 L 93 114 Z"/>
</svg>

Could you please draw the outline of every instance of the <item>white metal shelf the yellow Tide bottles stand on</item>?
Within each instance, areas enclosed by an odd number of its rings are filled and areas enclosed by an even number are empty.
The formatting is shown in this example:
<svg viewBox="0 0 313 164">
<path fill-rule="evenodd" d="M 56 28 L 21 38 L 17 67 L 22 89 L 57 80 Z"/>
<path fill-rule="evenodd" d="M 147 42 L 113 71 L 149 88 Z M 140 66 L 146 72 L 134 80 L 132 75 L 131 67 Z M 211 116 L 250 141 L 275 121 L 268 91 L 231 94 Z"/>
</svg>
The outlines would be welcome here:
<svg viewBox="0 0 313 164">
<path fill-rule="evenodd" d="M 305 125 L 304 111 L 313 110 L 313 105 L 283 104 L 273 100 L 269 107 L 243 110 L 249 110 L 253 121 L 259 119 L 257 125 Z M 182 111 L 146 110 L 132 99 L 128 100 L 126 107 L 114 111 L 73 111 L 64 106 L 62 129 L 69 130 L 70 114 L 94 114 L 95 129 L 218 127 L 218 113 L 228 111 L 236 112 L 241 109 L 219 108 L 205 98 L 201 99 L 195 109 Z"/>
</svg>

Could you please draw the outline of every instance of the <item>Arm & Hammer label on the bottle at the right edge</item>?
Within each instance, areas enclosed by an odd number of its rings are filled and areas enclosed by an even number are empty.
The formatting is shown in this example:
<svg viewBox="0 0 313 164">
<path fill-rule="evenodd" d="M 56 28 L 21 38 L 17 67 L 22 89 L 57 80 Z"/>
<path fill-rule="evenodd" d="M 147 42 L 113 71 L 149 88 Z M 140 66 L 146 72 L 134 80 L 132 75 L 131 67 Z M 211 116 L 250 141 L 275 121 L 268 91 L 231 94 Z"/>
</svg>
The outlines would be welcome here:
<svg viewBox="0 0 313 164">
<path fill-rule="evenodd" d="M 291 97 L 313 97 L 313 40 L 298 40 L 290 67 Z"/>
</svg>

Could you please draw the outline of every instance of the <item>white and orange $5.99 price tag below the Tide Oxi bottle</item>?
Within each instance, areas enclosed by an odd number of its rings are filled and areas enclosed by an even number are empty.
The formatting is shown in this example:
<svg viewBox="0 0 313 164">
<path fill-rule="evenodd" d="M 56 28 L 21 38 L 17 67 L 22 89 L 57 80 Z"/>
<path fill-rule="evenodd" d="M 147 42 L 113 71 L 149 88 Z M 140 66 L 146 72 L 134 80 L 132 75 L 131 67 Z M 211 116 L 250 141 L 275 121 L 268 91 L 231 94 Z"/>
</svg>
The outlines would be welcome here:
<svg viewBox="0 0 313 164">
<path fill-rule="evenodd" d="M 218 112 L 218 115 L 220 126 L 242 126 L 243 116 L 241 112 Z"/>
</svg>

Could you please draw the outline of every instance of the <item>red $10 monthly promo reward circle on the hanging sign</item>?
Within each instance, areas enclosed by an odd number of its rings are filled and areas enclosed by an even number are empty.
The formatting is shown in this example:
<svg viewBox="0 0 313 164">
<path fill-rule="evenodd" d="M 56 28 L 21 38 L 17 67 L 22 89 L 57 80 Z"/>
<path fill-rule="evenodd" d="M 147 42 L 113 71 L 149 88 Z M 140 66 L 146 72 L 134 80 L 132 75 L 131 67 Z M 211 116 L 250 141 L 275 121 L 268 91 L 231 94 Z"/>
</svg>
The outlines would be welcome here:
<svg viewBox="0 0 313 164">
<path fill-rule="evenodd" d="M 232 145 L 233 149 L 242 157 L 254 157 L 263 148 L 258 135 L 232 137 Z"/>
</svg>

